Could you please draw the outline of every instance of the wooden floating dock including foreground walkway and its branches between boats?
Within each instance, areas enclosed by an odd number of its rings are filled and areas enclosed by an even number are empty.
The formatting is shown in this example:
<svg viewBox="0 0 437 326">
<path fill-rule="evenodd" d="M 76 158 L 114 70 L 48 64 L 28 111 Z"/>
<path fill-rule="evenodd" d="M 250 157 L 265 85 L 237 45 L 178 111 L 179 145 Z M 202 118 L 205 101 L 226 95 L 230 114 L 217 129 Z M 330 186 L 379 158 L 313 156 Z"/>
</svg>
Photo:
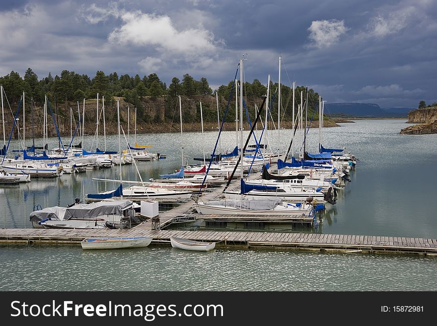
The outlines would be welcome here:
<svg viewBox="0 0 437 326">
<path fill-rule="evenodd" d="M 205 191 L 202 200 L 217 198 L 221 188 Z M 242 248 L 291 248 L 314 251 L 353 252 L 386 252 L 386 253 L 416 253 L 437 255 L 437 239 L 380 237 L 357 235 L 332 235 L 317 233 L 291 232 L 233 232 L 233 231 L 186 231 L 163 230 L 172 223 L 188 222 L 202 219 L 205 221 L 242 221 L 263 222 L 265 216 L 225 216 L 197 214 L 194 201 L 189 200 L 170 210 L 160 212 L 159 227 L 152 230 L 151 219 L 131 229 L 0 229 L 0 243 L 3 244 L 77 244 L 85 238 L 100 237 L 151 237 L 152 244 L 170 245 L 170 237 L 185 238 L 195 241 L 214 241 L 216 247 Z M 290 217 L 275 217 L 277 223 L 305 223 L 291 221 Z M 271 218 L 269 222 L 273 222 Z M 311 219 L 312 220 L 312 219 Z M 306 221 L 309 222 L 309 221 Z"/>
</svg>

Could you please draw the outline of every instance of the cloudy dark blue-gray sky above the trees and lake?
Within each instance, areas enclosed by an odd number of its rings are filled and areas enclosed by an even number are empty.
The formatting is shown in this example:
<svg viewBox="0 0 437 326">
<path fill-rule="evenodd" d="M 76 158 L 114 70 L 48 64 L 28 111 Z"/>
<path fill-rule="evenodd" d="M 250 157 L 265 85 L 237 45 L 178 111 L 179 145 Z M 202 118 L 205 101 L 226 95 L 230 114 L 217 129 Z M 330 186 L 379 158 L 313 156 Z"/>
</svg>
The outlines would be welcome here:
<svg viewBox="0 0 437 326">
<path fill-rule="evenodd" d="M 244 81 L 281 73 L 328 103 L 437 102 L 435 0 L 1 2 L 0 76 L 189 74 L 217 89 L 245 59 Z"/>
</svg>

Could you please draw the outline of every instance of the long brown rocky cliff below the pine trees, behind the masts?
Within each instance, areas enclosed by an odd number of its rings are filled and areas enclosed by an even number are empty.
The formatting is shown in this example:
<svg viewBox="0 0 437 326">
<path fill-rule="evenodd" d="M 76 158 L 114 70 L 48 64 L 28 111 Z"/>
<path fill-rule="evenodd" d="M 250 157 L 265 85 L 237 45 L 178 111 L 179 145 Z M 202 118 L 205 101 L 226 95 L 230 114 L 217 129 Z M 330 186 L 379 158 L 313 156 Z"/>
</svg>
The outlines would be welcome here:
<svg viewBox="0 0 437 326">
<path fill-rule="evenodd" d="M 135 106 L 127 103 L 122 97 L 114 97 L 111 99 L 105 98 L 105 132 L 107 135 L 117 133 L 117 100 L 120 107 L 120 121 L 125 134 L 132 135 L 135 133 Z M 256 99 L 258 107 L 261 106 L 262 98 Z M 220 108 L 220 119 L 226 108 L 227 99 L 224 97 L 218 98 L 218 104 Z M 195 96 L 181 96 L 181 110 L 182 121 L 184 131 L 201 131 L 200 123 L 200 103 L 202 103 L 204 130 L 215 131 L 218 129 L 217 122 L 217 99 L 213 95 L 195 95 Z M 254 107 L 253 103 L 248 103 L 249 107 Z M 50 109 L 52 113 L 50 112 Z M 14 113 L 15 113 L 14 109 Z M 250 110 L 250 109 L 249 109 Z M 97 120 L 97 100 L 87 99 L 85 100 L 85 134 L 95 135 L 96 132 L 96 120 Z M 71 122 L 71 114 L 73 112 L 73 118 Z M 59 133 L 62 137 L 70 137 L 71 128 L 73 130 L 78 126 L 78 116 L 83 113 L 83 102 L 67 102 L 58 103 L 56 106 L 54 103 L 49 105 L 48 110 L 48 134 L 49 137 L 56 137 L 57 131 L 53 120 L 56 120 L 56 124 L 59 128 Z M 254 120 L 254 112 L 249 113 L 252 121 Z M 32 124 L 33 115 L 33 124 Z M 245 114 L 244 114 L 245 115 Z M 264 117 L 264 114 L 262 115 Z M 223 130 L 235 130 L 235 103 L 230 103 L 229 111 L 227 114 L 226 122 L 223 126 Z M 35 137 L 42 137 L 43 135 L 43 108 L 39 105 L 36 107 L 30 107 L 26 102 L 26 139 L 32 138 L 32 133 Z M 318 118 L 315 118 L 318 120 Z M 13 118 L 11 114 L 5 114 L 5 131 L 6 139 L 12 128 Z M 246 118 L 244 118 L 246 120 Z M 288 120 L 291 120 L 288 119 Z M 312 121 L 311 127 L 318 127 L 318 121 Z M 129 121 L 129 124 L 128 124 Z M 325 127 L 338 126 L 332 119 L 326 118 L 323 121 Z M 19 113 L 18 125 L 20 126 L 20 134 L 22 137 L 22 110 Z M 33 125 L 33 127 L 32 127 Z M 80 128 L 82 127 L 82 123 Z M 262 129 L 262 124 L 259 122 L 258 129 Z M 282 128 L 291 128 L 290 121 L 281 122 Z M 102 114 L 102 100 L 99 99 L 99 136 L 103 136 L 103 114 Z M 250 126 L 245 123 L 244 129 L 250 129 Z M 141 99 L 141 107 L 137 108 L 137 133 L 161 133 L 161 132 L 180 132 L 180 114 L 179 114 L 179 98 L 177 96 L 160 96 L 150 97 L 145 96 Z M 77 130 L 76 136 L 79 130 Z M 17 138 L 17 128 L 15 126 L 12 138 Z"/>
</svg>

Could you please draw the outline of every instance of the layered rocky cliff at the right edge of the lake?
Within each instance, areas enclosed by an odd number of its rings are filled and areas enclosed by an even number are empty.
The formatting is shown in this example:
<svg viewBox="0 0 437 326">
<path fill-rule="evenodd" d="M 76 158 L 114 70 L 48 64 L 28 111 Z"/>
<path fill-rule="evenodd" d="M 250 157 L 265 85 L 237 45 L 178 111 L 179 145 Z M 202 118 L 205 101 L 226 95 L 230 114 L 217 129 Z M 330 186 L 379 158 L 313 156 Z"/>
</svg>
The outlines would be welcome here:
<svg viewBox="0 0 437 326">
<path fill-rule="evenodd" d="M 426 107 L 408 112 L 407 123 L 418 123 L 404 128 L 401 135 L 437 134 L 437 107 Z"/>
</svg>

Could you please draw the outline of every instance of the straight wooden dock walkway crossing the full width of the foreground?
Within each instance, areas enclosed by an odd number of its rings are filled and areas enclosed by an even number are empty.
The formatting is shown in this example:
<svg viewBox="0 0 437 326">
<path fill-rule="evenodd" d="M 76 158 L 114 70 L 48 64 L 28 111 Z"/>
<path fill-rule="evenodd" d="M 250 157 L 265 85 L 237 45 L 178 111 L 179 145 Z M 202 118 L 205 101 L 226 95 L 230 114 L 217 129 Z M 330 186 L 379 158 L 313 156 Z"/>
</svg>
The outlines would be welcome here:
<svg viewBox="0 0 437 326">
<path fill-rule="evenodd" d="M 437 239 L 427 238 L 281 232 L 145 230 L 139 227 L 125 230 L 1 229 L 0 243 L 79 244 L 85 238 L 139 236 L 153 238 L 152 244 L 169 245 L 170 236 L 175 236 L 197 241 L 218 242 L 217 248 L 235 246 L 245 248 L 271 247 L 316 251 L 437 255 Z"/>
</svg>

